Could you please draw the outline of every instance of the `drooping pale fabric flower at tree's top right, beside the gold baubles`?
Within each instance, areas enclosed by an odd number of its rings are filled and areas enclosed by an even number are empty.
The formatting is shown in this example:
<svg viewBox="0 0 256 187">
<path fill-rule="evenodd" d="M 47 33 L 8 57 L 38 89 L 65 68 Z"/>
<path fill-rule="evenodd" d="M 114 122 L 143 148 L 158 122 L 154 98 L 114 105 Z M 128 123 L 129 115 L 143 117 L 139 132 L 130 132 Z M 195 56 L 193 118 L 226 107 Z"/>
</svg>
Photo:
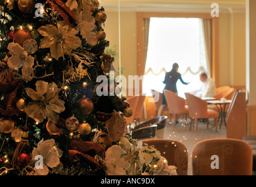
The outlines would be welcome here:
<svg viewBox="0 0 256 187">
<path fill-rule="evenodd" d="M 69 0 L 66 2 L 66 5 L 69 6 L 70 9 L 74 9 L 74 14 L 78 22 L 78 32 L 81 33 L 83 39 L 87 40 L 88 44 L 95 46 L 98 42 L 96 34 L 92 31 L 95 29 L 95 18 L 90 11 L 88 1 L 80 0 L 78 4 L 76 4 L 73 0 Z"/>
</svg>

